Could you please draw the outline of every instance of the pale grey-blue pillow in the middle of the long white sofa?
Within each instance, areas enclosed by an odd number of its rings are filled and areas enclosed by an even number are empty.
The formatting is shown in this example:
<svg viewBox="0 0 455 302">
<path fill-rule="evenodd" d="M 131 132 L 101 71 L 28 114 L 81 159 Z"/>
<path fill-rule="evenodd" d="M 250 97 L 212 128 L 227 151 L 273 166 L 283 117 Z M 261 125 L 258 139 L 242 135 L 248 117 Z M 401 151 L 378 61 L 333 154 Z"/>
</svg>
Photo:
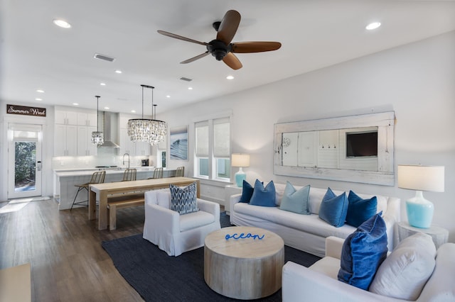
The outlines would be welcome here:
<svg viewBox="0 0 455 302">
<path fill-rule="evenodd" d="M 289 181 L 286 181 L 286 188 L 284 188 L 282 203 L 279 208 L 284 211 L 309 215 L 309 194 L 309 185 L 304 186 L 303 188 L 299 189 L 299 191 L 297 191 Z"/>
</svg>

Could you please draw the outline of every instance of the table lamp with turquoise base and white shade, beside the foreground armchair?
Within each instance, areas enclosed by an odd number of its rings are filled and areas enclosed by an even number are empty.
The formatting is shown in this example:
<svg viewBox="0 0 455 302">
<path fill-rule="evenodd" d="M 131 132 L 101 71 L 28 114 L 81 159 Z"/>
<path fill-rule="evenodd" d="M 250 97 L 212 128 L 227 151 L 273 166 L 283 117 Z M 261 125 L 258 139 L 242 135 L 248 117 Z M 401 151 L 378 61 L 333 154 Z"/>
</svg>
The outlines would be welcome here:
<svg viewBox="0 0 455 302">
<path fill-rule="evenodd" d="M 434 206 L 422 191 L 444 192 L 444 166 L 398 165 L 398 187 L 416 190 L 406 201 L 407 220 L 416 228 L 432 225 Z"/>
</svg>

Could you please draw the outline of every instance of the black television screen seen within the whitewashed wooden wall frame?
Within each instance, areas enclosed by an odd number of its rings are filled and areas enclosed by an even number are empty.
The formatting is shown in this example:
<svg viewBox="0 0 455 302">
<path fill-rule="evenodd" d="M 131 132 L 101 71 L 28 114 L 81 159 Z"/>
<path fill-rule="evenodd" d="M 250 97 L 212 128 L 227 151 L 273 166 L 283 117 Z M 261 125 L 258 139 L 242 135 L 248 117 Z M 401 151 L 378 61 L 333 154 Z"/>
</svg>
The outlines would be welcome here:
<svg viewBox="0 0 455 302">
<path fill-rule="evenodd" d="M 378 157 L 378 130 L 346 133 L 346 157 Z"/>
</svg>

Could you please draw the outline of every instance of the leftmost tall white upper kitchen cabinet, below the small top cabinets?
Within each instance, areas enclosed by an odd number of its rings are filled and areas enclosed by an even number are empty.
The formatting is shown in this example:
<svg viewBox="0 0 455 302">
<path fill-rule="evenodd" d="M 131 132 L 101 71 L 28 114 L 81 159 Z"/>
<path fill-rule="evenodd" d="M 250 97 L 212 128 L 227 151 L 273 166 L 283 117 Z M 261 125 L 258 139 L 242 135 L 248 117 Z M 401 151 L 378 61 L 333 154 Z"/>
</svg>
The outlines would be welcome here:
<svg viewBox="0 0 455 302">
<path fill-rule="evenodd" d="M 77 126 L 55 124 L 54 156 L 77 155 Z"/>
</svg>

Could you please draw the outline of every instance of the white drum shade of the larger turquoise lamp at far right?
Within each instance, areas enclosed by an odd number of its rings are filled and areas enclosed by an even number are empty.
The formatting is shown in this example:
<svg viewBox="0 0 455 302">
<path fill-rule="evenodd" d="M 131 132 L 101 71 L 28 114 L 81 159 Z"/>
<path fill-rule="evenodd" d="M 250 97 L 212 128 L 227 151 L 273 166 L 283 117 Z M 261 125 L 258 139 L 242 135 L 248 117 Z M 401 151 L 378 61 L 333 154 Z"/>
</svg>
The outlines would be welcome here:
<svg viewBox="0 0 455 302">
<path fill-rule="evenodd" d="M 398 187 L 444 192 L 444 166 L 398 165 Z"/>
</svg>

